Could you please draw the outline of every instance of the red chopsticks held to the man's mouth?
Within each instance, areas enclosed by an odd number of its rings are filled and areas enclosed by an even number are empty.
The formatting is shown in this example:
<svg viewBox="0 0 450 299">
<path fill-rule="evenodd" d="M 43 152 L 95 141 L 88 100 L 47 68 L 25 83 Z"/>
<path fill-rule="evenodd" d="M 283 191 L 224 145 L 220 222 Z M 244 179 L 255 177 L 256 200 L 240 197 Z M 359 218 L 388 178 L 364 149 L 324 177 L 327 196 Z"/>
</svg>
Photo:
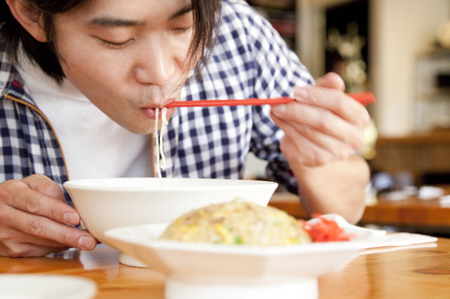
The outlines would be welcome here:
<svg viewBox="0 0 450 299">
<path fill-rule="evenodd" d="M 354 100 L 366 106 L 375 103 L 375 97 L 370 91 L 363 93 L 347 93 Z M 295 102 L 295 99 L 289 97 L 259 99 L 251 98 L 245 100 L 188 100 L 177 101 L 167 104 L 165 107 L 212 107 L 212 106 L 238 106 L 238 105 L 281 105 L 288 102 Z"/>
</svg>

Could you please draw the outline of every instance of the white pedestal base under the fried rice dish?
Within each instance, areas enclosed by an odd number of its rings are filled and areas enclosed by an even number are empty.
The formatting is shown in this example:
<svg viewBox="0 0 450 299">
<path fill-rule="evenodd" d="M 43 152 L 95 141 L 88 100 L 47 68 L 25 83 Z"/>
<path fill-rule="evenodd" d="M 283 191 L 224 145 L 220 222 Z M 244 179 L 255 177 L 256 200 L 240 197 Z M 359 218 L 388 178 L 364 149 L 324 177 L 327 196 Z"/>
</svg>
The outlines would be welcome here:
<svg viewBox="0 0 450 299">
<path fill-rule="evenodd" d="M 274 284 L 198 283 L 169 277 L 165 286 L 167 299 L 318 299 L 317 279 L 298 278 Z"/>
</svg>

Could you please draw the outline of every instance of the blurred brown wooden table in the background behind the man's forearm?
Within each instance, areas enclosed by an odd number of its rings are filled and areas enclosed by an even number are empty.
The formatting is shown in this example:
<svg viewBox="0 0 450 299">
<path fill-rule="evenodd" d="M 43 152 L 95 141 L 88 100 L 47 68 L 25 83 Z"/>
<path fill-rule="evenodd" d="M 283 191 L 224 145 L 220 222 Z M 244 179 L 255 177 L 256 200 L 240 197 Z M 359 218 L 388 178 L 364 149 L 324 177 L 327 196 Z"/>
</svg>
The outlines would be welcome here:
<svg viewBox="0 0 450 299">
<path fill-rule="evenodd" d="M 449 194 L 449 186 L 444 187 Z M 299 197 L 291 193 L 275 193 L 269 202 L 296 218 L 307 219 L 309 216 L 303 210 Z M 413 196 L 401 201 L 388 201 L 378 197 L 378 200 L 366 207 L 361 224 L 397 225 L 411 227 L 436 227 L 450 229 L 450 208 L 439 204 L 439 199 L 422 200 Z"/>
</svg>

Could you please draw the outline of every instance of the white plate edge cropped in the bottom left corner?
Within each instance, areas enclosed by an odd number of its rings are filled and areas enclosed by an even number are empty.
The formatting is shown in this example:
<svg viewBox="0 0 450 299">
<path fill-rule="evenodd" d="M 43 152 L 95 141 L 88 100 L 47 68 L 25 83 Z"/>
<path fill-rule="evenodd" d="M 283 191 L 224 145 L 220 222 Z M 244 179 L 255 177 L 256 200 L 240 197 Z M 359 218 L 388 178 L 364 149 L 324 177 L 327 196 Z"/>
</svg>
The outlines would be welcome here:
<svg viewBox="0 0 450 299">
<path fill-rule="evenodd" d="M 1 299 L 91 299 L 94 281 L 75 276 L 0 274 Z"/>
</svg>

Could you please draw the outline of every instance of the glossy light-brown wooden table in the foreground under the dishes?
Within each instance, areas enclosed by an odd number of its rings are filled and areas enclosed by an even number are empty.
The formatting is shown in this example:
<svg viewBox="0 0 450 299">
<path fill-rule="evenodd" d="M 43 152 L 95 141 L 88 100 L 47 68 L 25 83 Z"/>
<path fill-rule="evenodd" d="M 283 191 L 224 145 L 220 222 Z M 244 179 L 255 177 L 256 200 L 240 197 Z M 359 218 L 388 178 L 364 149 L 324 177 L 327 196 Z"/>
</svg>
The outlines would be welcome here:
<svg viewBox="0 0 450 299">
<path fill-rule="evenodd" d="M 363 251 L 344 267 L 324 275 L 319 279 L 320 299 L 450 298 L 450 239 L 400 248 Z M 90 252 L 65 251 L 44 258 L 0 258 L 0 273 L 92 279 L 98 284 L 97 299 L 164 298 L 162 274 L 120 265 L 117 251 L 108 247 Z"/>
</svg>

